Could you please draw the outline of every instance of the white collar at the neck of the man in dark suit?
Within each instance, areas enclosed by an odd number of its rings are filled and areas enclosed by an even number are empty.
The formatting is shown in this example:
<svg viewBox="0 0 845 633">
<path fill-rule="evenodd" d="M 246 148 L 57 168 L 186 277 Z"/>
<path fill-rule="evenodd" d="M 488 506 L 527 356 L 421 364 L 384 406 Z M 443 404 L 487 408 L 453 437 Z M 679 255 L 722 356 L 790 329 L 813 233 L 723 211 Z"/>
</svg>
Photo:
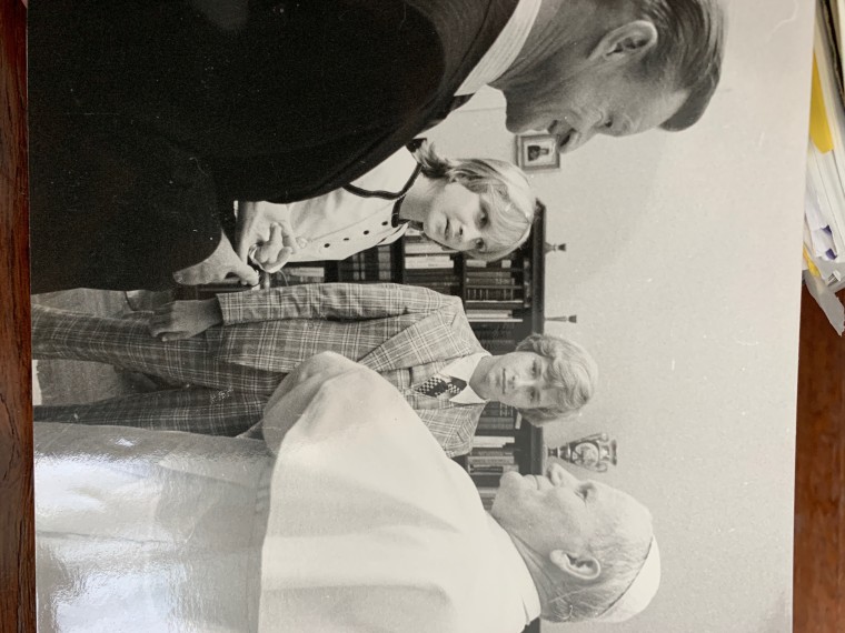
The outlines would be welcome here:
<svg viewBox="0 0 845 633">
<path fill-rule="evenodd" d="M 540 4 L 541 0 L 519 0 L 496 41 L 455 92 L 456 97 L 475 94 L 510 68 L 528 39 Z"/>
</svg>

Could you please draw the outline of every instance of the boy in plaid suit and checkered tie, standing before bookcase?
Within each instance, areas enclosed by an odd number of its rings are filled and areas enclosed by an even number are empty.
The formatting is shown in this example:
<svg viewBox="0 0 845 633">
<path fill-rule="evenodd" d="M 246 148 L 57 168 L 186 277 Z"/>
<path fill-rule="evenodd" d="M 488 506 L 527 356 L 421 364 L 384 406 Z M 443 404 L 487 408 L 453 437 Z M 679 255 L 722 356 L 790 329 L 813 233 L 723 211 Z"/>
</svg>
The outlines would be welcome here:
<svg viewBox="0 0 845 633">
<path fill-rule="evenodd" d="M 331 351 L 379 372 L 447 454 L 460 455 L 471 448 L 488 401 L 543 423 L 577 411 L 593 395 L 595 363 L 579 345 L 544 334 L 518 350 L 488 354 L 459 298 L 398 284 L 222 293 L 123 319 L 32 308 L 32 358 L 105 362 L 173 384 L 91 404 L 36 408 L 37 420 L 57 422 L 236 435 L 259 421 L 285 375 Z"/>
</svg>

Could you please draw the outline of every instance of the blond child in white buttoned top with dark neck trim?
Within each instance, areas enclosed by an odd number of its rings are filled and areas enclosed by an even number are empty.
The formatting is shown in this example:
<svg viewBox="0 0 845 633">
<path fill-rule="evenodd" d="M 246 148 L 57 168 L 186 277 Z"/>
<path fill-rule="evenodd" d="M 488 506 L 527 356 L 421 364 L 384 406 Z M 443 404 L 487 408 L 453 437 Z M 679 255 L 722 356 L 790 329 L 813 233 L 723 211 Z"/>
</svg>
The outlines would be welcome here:
<svg viewBox="0 0 845 633">
<path fill-rule="evenodd" d="M 491 261 L 528 237 L 537 200 L 525 174 L 493 159 L 445 159 L 424 141 L 326 195 L 241 202 L 238 254 L 267 272 L 288 262 L 341 260 L 398 240 L 408 225 Z"/>
</svg>

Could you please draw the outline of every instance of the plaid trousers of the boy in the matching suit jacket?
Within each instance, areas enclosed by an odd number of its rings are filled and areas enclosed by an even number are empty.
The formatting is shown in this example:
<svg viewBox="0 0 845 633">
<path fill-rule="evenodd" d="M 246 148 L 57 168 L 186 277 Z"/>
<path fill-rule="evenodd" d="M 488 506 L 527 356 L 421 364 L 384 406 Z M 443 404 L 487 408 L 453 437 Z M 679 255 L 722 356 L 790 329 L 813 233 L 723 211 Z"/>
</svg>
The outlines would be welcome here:
<svg viewBox="0 0 845 633">
<path fill-rule="evenodd" d="M 159 341 L 149 333 L 150 314 L 109 318 L 33 305 L 33 358 L 108 363 L 175 385 L 87 404 L 36 406 L 34 419 L 212 435 L 237 435 L 261 419 L 284 373 L 218 361 L 203 335 Z"/>
</svg>

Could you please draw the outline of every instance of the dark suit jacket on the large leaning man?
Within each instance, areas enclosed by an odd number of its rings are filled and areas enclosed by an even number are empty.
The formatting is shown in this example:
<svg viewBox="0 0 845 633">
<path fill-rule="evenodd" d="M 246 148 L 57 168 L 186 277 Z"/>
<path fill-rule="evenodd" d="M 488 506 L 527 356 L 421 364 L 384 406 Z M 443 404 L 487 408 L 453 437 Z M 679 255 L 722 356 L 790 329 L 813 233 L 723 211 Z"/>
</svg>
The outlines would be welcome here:
<svg viewBox="0 0 845 633">
<path fill-rule="evenodd" d="M 33 4 L 33 289 L 165 285 L 213 250 L 219 204 L 358 178 L 444 117 L 515 4 Z"/>
</svg>

